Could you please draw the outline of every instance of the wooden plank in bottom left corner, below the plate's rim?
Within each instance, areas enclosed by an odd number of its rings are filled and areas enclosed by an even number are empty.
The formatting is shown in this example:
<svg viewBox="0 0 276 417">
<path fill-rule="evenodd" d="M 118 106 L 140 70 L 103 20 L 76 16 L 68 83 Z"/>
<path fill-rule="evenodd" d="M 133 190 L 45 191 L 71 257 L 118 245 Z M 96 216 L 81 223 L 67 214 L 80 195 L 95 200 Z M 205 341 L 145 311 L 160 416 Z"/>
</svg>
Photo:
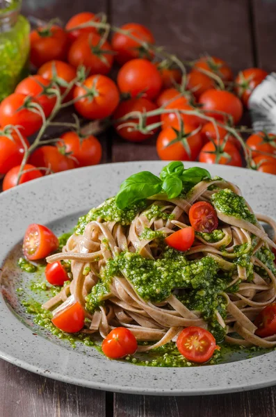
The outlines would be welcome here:
<svg viewBox="0 0 276 417">
<path fill-rule="evenodd" d="M 105 393 L 63 384 L 0 361 L 1 417 L 99 417 Z"/>
</svg>

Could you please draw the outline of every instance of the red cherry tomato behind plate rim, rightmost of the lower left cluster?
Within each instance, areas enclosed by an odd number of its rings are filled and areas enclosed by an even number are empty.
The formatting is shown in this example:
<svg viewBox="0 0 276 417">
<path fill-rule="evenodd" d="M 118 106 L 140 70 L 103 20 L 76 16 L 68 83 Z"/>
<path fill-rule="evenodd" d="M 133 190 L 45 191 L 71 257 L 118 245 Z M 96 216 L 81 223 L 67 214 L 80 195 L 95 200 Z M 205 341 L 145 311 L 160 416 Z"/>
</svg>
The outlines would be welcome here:
<svg viewBox="0 0 276 417">
<path fill-rule="evenodd" d="M 95 136 L 85 136 L 80 138 L 76 132 L 65 132 L 58 142 L 58 147 L 65 146 L 65 152 L 71 153 L 71 156 L 79 162 L 79 167 L 88 167 L 96 165 L 102 158 L 102 145 Z"/>
</svg>

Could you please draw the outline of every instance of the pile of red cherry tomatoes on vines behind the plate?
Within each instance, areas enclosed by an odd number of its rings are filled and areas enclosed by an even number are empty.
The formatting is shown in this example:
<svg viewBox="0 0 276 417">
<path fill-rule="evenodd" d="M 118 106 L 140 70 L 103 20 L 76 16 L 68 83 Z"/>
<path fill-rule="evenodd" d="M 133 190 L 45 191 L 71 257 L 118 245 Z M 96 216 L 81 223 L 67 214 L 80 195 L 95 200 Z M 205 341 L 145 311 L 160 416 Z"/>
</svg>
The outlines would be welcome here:
<svg viewBox="0 0 276 417">
<path fill-rule="evenodd" d="M 163 160 L 243 165 L 241 135 L 233 132 L 267 72 L 250 68 L 234 79 L 225 61 L 203 56 L 190 63 L 186 76 L 170 54 L 162 59 L 145 26 L 111 27 L 111 34 L 109 29 L 99 16 L 85 12 L 65 28 L 48 24 L 31 32 L 31 63 L 37 74 L 21 81 L 0 104 L 3 190 L 101 161 L 102 145 L 95 136 L 68 130 L 54 143 L 40 138 L 18 177 L 29 136 L 42 136 L 45 120 L 70 104 L 86 120 L 107 119 L 124 140 L 142 142 L 158 133 L 156 151 Z M 59 107 L 57 91 L 63 98 Z M 246 143 L 252 167 L 276 174 L 275 136 L 259 132 Z"/>
</svg>

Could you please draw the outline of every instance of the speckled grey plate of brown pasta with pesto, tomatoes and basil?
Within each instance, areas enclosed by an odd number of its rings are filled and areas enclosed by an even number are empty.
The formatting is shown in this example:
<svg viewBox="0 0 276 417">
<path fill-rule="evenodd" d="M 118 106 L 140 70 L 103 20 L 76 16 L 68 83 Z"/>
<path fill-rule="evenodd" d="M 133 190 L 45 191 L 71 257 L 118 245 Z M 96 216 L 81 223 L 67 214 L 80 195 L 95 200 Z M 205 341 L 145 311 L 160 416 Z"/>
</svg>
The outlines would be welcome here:
<svg viewBox="0 0 276 417">
<path fill-rule="evenodd" d="M 275 179 L 174 161 L 0 195 L 0 355 L 108 391 L 276 383 Z"/>
</svg>

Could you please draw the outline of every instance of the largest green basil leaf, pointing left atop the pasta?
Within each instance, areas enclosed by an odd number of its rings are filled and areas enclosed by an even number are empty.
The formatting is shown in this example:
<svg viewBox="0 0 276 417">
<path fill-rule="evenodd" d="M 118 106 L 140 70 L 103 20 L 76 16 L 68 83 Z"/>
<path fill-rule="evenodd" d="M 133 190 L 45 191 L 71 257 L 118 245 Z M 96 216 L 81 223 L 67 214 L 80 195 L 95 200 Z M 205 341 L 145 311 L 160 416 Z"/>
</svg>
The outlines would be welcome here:
<svg viewBox="0 0 276 417">
<path fill-rule="evenodd" d="M 127 178 L 116 195 L 116 204 L 123 209 L 141 199 L 152 197 L 162 190 L 162 181 L 149 171 L 138 172 Z"/>
</svg>

